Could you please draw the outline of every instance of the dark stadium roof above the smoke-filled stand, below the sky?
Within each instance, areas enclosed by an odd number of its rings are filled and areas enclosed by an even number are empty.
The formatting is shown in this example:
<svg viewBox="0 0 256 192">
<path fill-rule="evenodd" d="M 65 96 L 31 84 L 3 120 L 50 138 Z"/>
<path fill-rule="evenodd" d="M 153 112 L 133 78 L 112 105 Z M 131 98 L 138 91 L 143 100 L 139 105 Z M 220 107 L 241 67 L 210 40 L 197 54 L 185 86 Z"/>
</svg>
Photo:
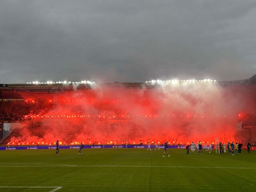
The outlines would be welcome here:
<svg viewBox="0 0 256 192">
<path fill-rule="evenodd" d="M 188 80 L 186 80 L 188 81 Z M 192 81 L 192 80 L 189 80 Z M 194 80 L 193 80 L 194 81 Z M 203 80 L 202 80 L 203 81 Z M 156 82 L 156 81 L 155 81 Z M 158 82 L 163 82 L 159 81 Z M 165 81 L 164 81 L 165 82 Z M 171 81 L 170 81 L 171 82 Z M 184 83 L 185 80 L 179 83 Z M 207 80 L 206 80 L 207 82 Z M 199 83 L 199 82 L 195 82 Z M 246 85 L 253 84 L 256 85 L 256 74 L 251 78 L 245 80 L 234 80 L 234 81 L 216 81 L 214 82 L 221 86 L 233 86 L 233 85 Z M 83 91 L 83 90 L 94 90 L 97 88 L 157 88 L 159 83 L 149 83 L 149 82 L 114 82 L 114 83 L 104 83 L 104 84 L 0 84 L 0 99 L 24 99 L 24 98 L 47 98 L 63 95 L 67 92 Z"/>
</svg>

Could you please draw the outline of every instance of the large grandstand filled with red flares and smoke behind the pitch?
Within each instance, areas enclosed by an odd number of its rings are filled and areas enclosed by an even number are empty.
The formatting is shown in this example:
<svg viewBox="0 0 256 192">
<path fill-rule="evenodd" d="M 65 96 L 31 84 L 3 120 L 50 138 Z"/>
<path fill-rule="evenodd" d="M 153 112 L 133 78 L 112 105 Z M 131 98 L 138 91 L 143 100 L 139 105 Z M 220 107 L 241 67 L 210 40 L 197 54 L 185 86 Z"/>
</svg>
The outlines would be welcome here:
<svg viewBox="0 0 256 192">
<path fill-rule="evenodd" d="M 196 127 L 209 127 L 204 133 L 207 142 L 222 133 L 223 140 L 255 142 L 255 93 L 256 75 L 236 81 L 0 84 L 0 143 L 38 145 L 60 139 L 65 144 L 103 140 L 178 144 L 197 139 L 188 131 L 196 132 Z M 230 102 L 227 110 L 222 108 L 225 102 Z M 174 103 L 179 105 L 173 107 Z M 233 132 L 231 138 L 226 129 Z"/>
</svg>

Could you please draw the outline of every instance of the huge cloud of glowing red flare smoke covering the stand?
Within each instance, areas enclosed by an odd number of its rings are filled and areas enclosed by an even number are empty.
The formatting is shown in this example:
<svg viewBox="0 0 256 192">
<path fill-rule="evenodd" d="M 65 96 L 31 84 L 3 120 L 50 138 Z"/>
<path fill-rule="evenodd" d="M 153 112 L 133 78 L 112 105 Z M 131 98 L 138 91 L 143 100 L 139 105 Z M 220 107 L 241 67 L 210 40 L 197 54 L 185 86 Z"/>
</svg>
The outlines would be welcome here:
<svg viewBox="0 0 256 192">
<path fill-rule="evenodd" d="M 255 115 L 255 93 L 253 85 L 222 87 L 210 83 L 65 92 L 47 98 L 50 107 L 27 114 L 45 123 L 24 123 L 20 135 L 11 141 L 240 141 L 243 136 L 238 122 L 241 114 Z"/>
</svg>

